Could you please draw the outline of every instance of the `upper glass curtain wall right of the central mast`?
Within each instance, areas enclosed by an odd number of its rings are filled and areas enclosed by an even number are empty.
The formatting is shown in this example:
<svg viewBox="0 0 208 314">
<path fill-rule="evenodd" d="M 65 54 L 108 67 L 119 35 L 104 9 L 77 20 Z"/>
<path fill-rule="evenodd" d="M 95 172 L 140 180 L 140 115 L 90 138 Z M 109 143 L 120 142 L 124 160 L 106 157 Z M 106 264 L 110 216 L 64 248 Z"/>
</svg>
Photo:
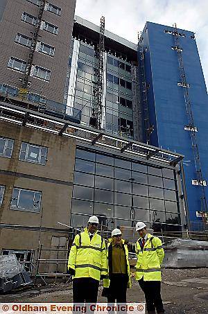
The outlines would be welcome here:
<svg viewBox="0 0 208 314">
<path fill-rule="evenodd" d="M 130 63 L 107 54 L 106 80 L 106 131 L 133 138 Z"/>
</svg>

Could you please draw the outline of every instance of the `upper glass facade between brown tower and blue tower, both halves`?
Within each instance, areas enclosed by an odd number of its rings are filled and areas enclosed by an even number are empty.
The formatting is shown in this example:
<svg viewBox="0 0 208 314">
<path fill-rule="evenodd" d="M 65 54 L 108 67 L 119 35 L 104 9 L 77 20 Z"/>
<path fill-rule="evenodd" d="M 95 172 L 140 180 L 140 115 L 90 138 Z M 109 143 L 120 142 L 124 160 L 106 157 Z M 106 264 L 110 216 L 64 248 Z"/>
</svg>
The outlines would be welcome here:
<svg viewBox="0 0 208 314">
<path fill-rule="evenodd" d="M 83 125 L 89 125 L 94 106 L 95 69 L 98 67 L 95 46 L 73 38 L 69 55 L 68 83 L 70 89 L 73 81 L 73 89 L 68 91 L 65 99 L 68 105 L 82 110 Z M 133 138 L 131 64 L 107 52 L 104 53 L 104 63 L 104 128 L 112 134 Z M 67 97 L 73 99 L 70 104 Z"/>
</svg>

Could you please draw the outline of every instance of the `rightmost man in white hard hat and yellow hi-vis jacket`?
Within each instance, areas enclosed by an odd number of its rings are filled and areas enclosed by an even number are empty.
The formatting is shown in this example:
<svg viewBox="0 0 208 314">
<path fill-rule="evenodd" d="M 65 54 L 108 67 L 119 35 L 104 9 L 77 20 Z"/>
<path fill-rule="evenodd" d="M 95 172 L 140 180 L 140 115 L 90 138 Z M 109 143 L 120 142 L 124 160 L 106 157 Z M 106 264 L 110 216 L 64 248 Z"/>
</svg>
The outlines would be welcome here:
<svg viewBox="0 0 208 314">
<path fill-rule="evenodd" d="M 164 259 L 162 241 L 146 231 L 145 223 L 136 225 L 139 239 L 135 244 L 137 254 L 136 279 L 144 291 L 148 313 L 164 313 L 161 297 L 161 265 Z"/>
</svg>

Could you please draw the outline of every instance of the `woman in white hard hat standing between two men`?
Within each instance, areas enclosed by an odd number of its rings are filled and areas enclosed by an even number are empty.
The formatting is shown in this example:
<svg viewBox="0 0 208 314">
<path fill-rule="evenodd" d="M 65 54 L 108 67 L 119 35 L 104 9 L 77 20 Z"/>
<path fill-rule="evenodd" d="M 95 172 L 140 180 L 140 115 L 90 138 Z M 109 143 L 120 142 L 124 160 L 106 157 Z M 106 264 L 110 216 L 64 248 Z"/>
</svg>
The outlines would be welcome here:
<svg viewBox="0 0 208 314">
<path fill-rule="evenodd" d="M 114 229 L 107 244 L 109 279 L 103 279 L 103 297 L 108 304 L 126 303 L 126 290 L 131 286 L 128 246 L 121 236 L 121 230 Z"/>
</svg>

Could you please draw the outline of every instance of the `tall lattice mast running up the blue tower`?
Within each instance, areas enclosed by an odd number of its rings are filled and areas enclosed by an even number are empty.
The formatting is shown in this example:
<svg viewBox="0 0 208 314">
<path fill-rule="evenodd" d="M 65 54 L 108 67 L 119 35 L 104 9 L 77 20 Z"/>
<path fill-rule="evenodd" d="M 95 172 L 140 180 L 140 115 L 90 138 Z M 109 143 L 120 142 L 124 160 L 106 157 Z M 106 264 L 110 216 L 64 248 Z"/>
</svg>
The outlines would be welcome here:
<svg viewBox="0 0 208 314">
<path fill-rule="evenodd" d="M 198 143 L 197 143 L 197 137 L 196 137 L 196 125 L 194 124 L 193 120 L 193 112 L 191 110 L 191 100 L 189 98 L 189 84 L 187 83 L 186 73 L 184 71 L 184 62 L 183 62 L 183 56 L 182 56 L 182 47 L 180 46 L 180 40 L 179 36 L 180 34 L 177 31 L 176 24 L 173 25 L 173 36 L 175 40 L 175 51 L 177 51 L 177 60 L 178 60 L 178 66 L 180 69 L 180 77 L 182 80 L 182 88 L 184 91 L 184 103 L 186 106 L 187 111 L 187 117 L 189 121 L 189 130 L 191 134 L 191 146 L 193 149 L 193 158 L 196 168 L 196 175 L 198 180 L 198 186 L 200 186 L 201 189 L 201 196 L 200 196 L 200 203 L 201 203 L 201 211 L 204 213 L 207 213 L 207 199 L 205 195 L 205 180 L 202 176 L 202 168 L 200 163 L 200 154 L 198 150 Z"/>
</svg>

